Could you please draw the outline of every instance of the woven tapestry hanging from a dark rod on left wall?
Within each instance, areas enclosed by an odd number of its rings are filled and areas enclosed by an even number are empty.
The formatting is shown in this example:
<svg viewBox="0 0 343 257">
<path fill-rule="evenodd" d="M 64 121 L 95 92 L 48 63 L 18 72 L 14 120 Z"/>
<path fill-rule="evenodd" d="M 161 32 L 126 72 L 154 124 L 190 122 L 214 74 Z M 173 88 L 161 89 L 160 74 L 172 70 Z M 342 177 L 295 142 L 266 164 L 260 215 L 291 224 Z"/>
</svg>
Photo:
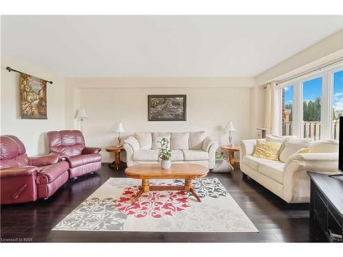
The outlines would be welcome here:
<svg viewBox="0 0 343 257">
<path fill-rule="evenodd" d="M 47 119 L 47 81 L 20 73 L 21 119 Z"/>
</svg>

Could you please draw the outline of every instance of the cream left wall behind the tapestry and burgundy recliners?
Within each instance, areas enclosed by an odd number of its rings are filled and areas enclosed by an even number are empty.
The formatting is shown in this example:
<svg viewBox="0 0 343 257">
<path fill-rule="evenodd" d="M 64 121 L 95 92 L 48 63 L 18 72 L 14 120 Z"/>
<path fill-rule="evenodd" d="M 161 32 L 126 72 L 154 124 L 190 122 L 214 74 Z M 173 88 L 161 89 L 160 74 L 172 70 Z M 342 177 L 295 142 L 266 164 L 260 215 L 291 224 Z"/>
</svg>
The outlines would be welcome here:
<svg viewBox="0 0 343 257">
<path fill-rule="evenodd" d="M 47 80 L 47 120 L 21 119 L 19 106 L 19 73 L 8 72 L 6 66 Z M 1 56 L 1 134 L 18 136 L 25 144 L 27 154 L 47 154 L 45 133 L 64 130 L 64 77 L 59 77 L 40 66 L 10 56 Z"/>
</svg>

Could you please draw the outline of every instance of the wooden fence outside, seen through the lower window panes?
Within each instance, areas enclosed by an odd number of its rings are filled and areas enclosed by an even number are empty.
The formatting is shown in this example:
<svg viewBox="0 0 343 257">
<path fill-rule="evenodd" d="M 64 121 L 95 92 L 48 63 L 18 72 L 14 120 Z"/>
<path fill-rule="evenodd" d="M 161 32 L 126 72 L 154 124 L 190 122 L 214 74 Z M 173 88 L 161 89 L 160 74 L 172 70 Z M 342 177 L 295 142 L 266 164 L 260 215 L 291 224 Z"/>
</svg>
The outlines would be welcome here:
<svg viewBox="0 0 343 257">
<path fill-rule="evenodd" d="M 283 124 L 284 136 L 292 135 L 292 121 L 287 121 Z M 340 122 L 333 121 L 331 124 L 331 137 L 335 140 L 340 136 Z M 303 121 L 303 137 L 320 140 L 320 121 Z"/>
</svg>

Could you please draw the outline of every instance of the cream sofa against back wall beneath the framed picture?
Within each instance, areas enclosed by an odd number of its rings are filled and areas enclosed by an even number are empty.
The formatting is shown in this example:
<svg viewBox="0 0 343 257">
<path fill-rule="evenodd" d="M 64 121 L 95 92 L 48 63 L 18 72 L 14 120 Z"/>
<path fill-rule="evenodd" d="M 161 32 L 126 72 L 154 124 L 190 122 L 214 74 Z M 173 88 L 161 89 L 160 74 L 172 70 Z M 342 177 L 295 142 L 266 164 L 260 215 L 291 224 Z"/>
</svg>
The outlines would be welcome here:
<svg viewBox="0 0 343 257">
<path fill-rule="evenodd" d="M 167 138 L 172 163 L 197 163 L 209 169 L 215 166 L 217 141 L 206 132 L 136 132 L 124 141 L 126 164 L 159 163 L 159 140 Z"/>
</svg>

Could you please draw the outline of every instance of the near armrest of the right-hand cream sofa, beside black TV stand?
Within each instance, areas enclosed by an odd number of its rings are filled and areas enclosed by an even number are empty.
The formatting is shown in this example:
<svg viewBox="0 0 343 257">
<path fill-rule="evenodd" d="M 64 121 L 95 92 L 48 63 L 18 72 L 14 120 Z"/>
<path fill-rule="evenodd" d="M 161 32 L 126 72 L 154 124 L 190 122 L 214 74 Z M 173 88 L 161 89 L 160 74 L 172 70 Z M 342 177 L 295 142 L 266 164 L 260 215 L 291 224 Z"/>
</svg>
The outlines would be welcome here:
<svg viewBox="0 0 343 257">
<path fill-rule="evenodd" d="M 335 174 L 338 171 L 338 153 L 325 154 L 294 154 L 285 163 L 283 168 L 283 199 L 287 202 L 292 201 L 294 188 L 299 178 L 304 178 L 303 188 L 309 187 L 309 177 L 307 171 L 317 173 Z M 303 173 L 298 174 L 297 173 Z"/>
</svg>

